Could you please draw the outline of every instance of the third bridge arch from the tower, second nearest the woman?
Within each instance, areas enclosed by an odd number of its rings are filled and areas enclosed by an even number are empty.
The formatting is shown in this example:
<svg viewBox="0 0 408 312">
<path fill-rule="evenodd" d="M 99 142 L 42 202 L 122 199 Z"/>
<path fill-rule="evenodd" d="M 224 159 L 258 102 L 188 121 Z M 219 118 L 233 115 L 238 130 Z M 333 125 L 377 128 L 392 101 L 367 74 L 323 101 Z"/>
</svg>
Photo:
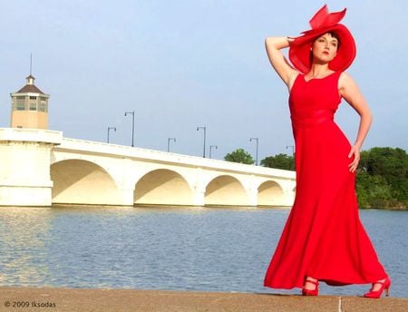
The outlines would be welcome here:
<svg viewBox="0 0 408 312">
<path fill-rule="evenodd" d="M 242 183 L 229 175 L 221 175 L 209 181 L 207 185 L 205 205 L 248 206 L 248 194 Z"/>
</svg>

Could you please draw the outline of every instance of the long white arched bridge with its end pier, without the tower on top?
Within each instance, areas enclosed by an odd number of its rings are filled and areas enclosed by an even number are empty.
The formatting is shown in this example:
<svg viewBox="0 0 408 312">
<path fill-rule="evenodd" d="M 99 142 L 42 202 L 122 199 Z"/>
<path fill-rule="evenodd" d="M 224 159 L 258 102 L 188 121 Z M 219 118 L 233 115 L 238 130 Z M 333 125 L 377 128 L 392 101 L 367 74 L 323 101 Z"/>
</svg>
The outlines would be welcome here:
<svg viewBox="0 0 408 312">
<path fill-rule="evenodd" d="M 291 206 L 295 190 L 294 171 L 0 128 L 0 206 Z"/>
</svg>

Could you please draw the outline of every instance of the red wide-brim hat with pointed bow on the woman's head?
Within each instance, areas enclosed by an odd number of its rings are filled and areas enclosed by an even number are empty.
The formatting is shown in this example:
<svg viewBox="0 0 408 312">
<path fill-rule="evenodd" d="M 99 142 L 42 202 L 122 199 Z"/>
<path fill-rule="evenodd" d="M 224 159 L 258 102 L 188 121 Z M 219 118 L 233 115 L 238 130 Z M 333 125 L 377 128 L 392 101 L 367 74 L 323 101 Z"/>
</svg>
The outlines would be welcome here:
<svg viewBox="0 0 408 312">
<path fill-rule="evenodd" d="M 355 39 L 344 24 L 338 24 L 345 16 L 345 11 L 328 13 L 327 5 L 324 5 L 309 21 L 312 29 L 301 33 L 295 38 L 289 47 L 289 60 L 301 73 L 310 71 L 310 49 L 313 42 L 322 34 L 335 33 L 340 41 L 335 58 L 328 64 L 335 72 L 343 72 L 355 60 Z"/>
</svg>

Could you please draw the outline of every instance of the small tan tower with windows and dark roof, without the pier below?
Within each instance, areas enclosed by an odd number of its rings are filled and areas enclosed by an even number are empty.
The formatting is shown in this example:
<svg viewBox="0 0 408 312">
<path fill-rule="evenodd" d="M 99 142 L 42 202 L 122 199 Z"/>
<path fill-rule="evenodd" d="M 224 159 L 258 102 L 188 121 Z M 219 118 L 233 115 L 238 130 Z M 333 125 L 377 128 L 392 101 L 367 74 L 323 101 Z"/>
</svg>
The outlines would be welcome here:
<svg viewBox="0 0 408 312">
<path fill-rule="evenodd" d="M 12 128 L 48 128 L 48 99 L 34 84 L 34 76 L 25 78 L 26 84 L 16 93 L 11 93 L 11 127 Z"/>
</svg>

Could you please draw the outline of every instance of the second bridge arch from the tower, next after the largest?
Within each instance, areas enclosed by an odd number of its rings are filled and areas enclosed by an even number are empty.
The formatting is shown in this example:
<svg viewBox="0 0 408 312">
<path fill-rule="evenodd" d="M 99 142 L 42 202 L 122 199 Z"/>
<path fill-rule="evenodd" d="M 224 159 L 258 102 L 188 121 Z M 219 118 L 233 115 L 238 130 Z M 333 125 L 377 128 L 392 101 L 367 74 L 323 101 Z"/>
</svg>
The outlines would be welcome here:
<svg viewBox="0 0 408 312">
<path fill-rule="evenodd" d="M 133 199 L 135 204 L 189 206 L 193 205 L 193 192 L 178 172 L 158 169 L 137 181 Z"/>
</svg>

